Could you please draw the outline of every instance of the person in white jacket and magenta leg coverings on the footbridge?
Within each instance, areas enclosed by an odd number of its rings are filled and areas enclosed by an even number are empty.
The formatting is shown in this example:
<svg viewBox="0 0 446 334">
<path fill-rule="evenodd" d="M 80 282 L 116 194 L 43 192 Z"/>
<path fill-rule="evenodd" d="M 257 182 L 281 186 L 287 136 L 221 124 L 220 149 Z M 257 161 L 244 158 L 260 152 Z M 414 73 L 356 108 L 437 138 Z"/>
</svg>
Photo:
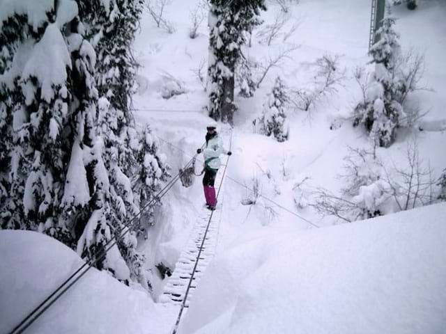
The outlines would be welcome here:
<svg viewBox="0 0 446 334">
<path fill-rule="evenodd" d="M 208 209 L 215 210 L 217 205 L 217 198 L 215 197 L 215 176 L 217 176 L 218 168 L 222 164 L 220 161 L 220 154 L 231 155 L 231 151 L 223 148 L 223 141 L 217 133 L 217 122 L 210 122 L 206 127 L 206 145 L 203 150 L 199 148 L 197 154 L 203 152 L 204 157 L 204 176 L 203 176 L 203 190 L 206 198 L 206 205 Z"/>
</svg>

